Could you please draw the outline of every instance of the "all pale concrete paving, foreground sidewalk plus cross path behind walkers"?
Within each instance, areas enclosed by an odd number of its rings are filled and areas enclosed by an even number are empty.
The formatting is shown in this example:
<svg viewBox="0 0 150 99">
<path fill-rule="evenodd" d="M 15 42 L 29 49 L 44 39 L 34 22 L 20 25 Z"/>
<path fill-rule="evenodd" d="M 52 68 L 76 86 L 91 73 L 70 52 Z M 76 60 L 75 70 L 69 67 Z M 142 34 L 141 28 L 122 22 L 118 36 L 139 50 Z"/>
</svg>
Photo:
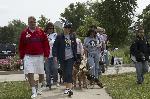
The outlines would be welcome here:
<svg viewBox="0 0 150 99">
<path fill-rule="evenodd" d="M 134 72 L 134 67 L 120 67 L 119 73 Z M 115 68 L 109 67 L 104 75 L 115 74 Z M 35 78 L 38 78 L 36 75 Z M 0 82 L 4 81 L 24 81 L 25 76 L 23 72 L 3 72 L 0 71 Z M 41 96 L 37 99 L 68 99 L 69 97 L 63 94 L 64 87 L 53 88 L 52 90 L 44 89 Z M 98 88 L 95 86 L 94 89 L 83 89 L 74 90 L 74 95 L 71 99 L 112 99 L 105 91 L 105 88 Z"/>
</svg>

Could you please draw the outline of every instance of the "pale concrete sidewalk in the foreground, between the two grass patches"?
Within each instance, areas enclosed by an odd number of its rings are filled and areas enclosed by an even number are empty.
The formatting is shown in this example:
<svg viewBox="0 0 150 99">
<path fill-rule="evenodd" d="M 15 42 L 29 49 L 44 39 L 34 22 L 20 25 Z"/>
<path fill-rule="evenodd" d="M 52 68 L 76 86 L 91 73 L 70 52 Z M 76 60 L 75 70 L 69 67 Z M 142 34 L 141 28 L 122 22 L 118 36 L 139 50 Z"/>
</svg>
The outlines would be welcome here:
<svg viewBox="0 0 150 99">
<path fill-rule="evenodd" d="M 64 95 L 63 92 L 63 86 L 52 90 L 46 89 L 37 99 L 70 99 L 70 97 Z M 73 92 L 74 95 L 72 95 L 71 99 L 112 99 L 104 88 L 100 89 L 98 86 L 95 86 L 94 89 L 74 89 Z"/>
</svg>

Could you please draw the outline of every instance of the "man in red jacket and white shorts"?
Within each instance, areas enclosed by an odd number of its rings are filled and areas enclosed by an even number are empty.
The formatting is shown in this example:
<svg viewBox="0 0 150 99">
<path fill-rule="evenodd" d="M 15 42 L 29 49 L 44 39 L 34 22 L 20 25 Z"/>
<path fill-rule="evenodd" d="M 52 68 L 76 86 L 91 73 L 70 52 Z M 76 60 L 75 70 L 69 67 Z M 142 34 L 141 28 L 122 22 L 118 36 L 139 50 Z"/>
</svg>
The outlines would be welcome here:
<svg viewBox="0 0 150 99">
<path fill-rule="evenodd" d="M 41 85 L 44 80 L 44 59 L 46 61 L 50 53 L 49 42 L 46 34 L 36 26 L 36 19 L 33 16 L 28 18 L 28 27 L 20 36 L 19 54 L 24 61 L 24 73 L 28 77 L 32 87 L 32 96 L 41 94 Z M 38 90 L 35 88 L 34 74 L 39 74 Z"/>
</svg>

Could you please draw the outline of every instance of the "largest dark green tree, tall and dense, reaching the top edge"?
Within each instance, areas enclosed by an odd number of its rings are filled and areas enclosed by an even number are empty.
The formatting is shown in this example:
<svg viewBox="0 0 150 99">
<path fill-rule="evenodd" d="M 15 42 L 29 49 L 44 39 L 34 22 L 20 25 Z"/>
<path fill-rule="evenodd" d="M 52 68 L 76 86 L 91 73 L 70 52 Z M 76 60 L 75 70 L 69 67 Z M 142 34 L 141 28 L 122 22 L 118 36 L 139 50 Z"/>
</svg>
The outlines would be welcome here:
<svg viewBox="0 0 150 99">
<path fill-rule="evenodd" d="M 136 2 L 137 0 L 105 0 L 92 4 L 92 15 L 106 29 L 112 45 L 118 46 L 126 41 Z"/>
</svg>

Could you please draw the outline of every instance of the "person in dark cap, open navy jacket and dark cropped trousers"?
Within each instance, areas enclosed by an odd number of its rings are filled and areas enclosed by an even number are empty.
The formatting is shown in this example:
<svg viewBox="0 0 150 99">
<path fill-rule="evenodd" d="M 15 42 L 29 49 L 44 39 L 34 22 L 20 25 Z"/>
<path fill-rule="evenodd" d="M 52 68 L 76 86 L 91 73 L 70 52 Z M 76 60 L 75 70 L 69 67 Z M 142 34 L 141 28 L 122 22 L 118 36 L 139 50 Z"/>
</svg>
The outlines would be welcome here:
<svg viewBox="0 0 150 99">
<path fill-rule="evenodd" d="M 58 35 L 53 45 L 53 56 L 58 60 L 63 70 L 63 82 L 66 89 L 64 94 L 73 95 L 72 92 L 72 71 L 76 61 L 77 44 L 76 38 L 71 33 L 71 23 L 64 24 L 64 33 Z"/>
</svg>

